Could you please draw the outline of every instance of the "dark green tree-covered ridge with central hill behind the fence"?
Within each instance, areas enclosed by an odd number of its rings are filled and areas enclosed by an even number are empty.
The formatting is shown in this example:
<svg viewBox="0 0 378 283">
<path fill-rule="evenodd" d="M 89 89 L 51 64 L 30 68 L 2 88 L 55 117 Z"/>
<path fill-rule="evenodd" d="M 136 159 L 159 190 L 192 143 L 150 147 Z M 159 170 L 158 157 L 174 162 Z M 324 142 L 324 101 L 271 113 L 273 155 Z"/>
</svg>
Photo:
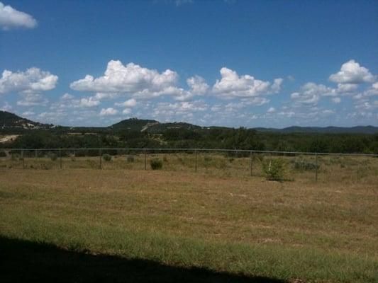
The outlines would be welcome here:
<svg viewBox="0 0 378 283">
<path fill-rule="evenodd" d="M 1 121 L 1 120 L 0 120 Z M 378 154 L 378 134 L 257 131 L 123 120 L 111 127 L 1 129 L 20 136 L 2 148 L 199 148 Z"/>
</svg>

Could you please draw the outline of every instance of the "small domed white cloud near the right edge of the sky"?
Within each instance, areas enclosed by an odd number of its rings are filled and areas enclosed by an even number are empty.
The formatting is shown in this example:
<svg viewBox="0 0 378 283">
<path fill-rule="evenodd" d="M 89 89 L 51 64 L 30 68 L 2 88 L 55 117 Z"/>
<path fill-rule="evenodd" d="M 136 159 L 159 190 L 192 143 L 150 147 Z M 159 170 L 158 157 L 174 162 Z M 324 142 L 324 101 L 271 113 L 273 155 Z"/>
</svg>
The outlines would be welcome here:
<svg viewBox="0 0 378 283">
<path fill-rule="evenodd" d="M 340 71 L 331 74 L 329 80 L 334 83 L 372 83 L 374 76 L 369 69 L 360 66 L 355 60 L 349 60 L 341 66 Z"/>
</svg>

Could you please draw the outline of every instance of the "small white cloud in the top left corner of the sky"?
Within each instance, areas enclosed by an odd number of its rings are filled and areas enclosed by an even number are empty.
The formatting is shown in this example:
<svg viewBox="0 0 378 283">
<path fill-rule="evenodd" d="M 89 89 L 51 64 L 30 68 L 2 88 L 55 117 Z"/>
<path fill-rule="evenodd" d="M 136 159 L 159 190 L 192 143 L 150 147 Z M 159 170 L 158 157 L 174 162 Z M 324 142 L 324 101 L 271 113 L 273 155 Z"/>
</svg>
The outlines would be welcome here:
<svg viewBox="0 0 378 283">
<path fill-rule="evenodd" d="M 35 28 L 37 21 L 28 13 L 17 11 L 9 5 L 0 2 L 0 28 L 10 30 L 11 28 Z"/>
</svg>

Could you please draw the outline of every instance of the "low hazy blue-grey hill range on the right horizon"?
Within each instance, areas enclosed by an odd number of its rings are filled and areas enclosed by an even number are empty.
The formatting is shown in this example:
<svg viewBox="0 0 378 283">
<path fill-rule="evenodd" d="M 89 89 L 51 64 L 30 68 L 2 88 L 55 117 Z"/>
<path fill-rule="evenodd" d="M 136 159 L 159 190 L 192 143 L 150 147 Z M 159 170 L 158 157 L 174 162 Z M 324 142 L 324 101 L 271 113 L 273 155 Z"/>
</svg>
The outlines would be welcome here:
<svg viewBox="0 0 378 283">
<path fill-rule="evenodd" d="M 374 126 L 355 126 L 355 127 L 299 127 L 291 126 L 283 129 L 274 128 L 254 128 L 258 132 L 276 132 L 282 134 L 291 133 L 317 133 L 317 134 L 378 134 L 378 127 Z"/>
</svg>

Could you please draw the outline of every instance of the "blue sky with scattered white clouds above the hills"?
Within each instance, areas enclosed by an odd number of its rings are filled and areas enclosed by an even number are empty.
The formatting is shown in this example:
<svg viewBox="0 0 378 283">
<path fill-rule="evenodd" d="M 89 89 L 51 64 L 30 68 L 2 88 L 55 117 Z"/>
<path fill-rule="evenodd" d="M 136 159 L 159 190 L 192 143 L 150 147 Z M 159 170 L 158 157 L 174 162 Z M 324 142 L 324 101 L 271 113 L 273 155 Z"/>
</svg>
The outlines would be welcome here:
<svg viewBox="0 0 378 283">
<path fill-rule="evenodd" d="M 378 1 L 0 0 L 0 110 L 378 126 Z"/>
</svg>

